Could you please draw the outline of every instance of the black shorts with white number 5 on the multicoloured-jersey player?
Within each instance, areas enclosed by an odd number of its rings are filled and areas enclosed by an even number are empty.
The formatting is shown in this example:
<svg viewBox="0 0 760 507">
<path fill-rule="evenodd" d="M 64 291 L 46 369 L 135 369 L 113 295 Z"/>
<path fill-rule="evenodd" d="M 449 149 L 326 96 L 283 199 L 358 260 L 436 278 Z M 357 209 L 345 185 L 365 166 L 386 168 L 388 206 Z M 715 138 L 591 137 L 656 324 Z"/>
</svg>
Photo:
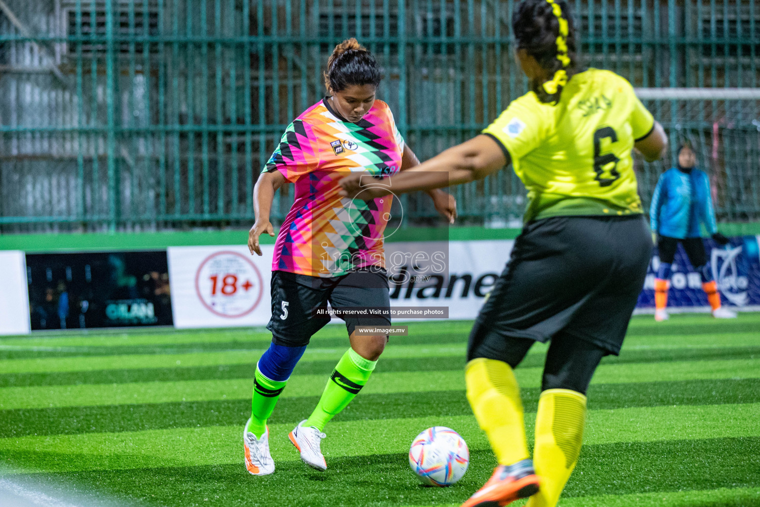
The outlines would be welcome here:
<svg viewBox="0 0 760 507">
<path fill-rule="evenodd" d="M 315 315 L 317 309 L 391 306 L 388 274 L 382 268 L 353 271 L 340 277 L 321 278 L 306 274 L 272 271 L 272 317 L 267 329 L 274 344 L 302 347 L 330 322 L 330 317 Z M 344 318 L 348 334 L 357 325 L 391 325 L 385 316 Z"/>
</svg>

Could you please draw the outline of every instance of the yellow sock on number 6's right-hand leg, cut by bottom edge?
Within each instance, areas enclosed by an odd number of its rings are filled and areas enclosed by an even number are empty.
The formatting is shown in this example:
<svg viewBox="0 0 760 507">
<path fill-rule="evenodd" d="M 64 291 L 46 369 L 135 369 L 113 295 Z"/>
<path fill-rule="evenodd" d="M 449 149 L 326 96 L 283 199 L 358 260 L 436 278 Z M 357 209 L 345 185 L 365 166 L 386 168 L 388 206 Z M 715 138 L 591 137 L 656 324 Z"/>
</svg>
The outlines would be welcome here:
<svg viewBox="0 0 760 507">
<path fill-rule="evenodd" d="M 541 478 L 539 492 L 525 507 L 555 507 L 581 454 L 586 397 L 569 389 L 541 393 L 536 414 L 533 464 Z"/>
</svg>

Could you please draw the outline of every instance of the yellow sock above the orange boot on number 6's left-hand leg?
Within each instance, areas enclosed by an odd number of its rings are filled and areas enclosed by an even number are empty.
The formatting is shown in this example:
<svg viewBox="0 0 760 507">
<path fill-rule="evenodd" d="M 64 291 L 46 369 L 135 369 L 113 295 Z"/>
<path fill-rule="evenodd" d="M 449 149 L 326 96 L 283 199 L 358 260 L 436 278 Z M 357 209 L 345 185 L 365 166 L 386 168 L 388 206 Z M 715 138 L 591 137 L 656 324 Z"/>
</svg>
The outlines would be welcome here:
<svg viewBox="0 0 760 507">
<path fill-rule="evenodd" d="M 499 464 L 529 458 L 520 386 L 511 367 L 479 358 L 467 363 L 467 400 Z"/>
</svg>

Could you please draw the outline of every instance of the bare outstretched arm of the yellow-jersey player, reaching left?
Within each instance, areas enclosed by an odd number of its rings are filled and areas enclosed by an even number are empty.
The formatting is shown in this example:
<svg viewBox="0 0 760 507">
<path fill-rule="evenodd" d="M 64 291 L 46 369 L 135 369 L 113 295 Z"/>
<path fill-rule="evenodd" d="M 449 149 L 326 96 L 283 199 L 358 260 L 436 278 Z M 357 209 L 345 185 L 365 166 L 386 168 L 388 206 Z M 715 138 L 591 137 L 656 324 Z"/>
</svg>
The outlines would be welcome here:
<svg viewBox="0 0 760 507">
<path fill-rule="evenodd" d="M 382 197 L 391 192 L 403 194 L 419 190 L 441 189 L 445 186 L 461 185 L 476 179 L 483 179 L 496 173 L 510 163 L 508 154 L 488 135 L 478 135 L 470 141 L 448 148 L 441 154 L 414 166 L 410 170 L 385 179 L 382 185 L 365 180 L 369 189 L 363 189 L 361 175 L 347 176 L 340 180 L 343 190 L 340 195 L 350 198 L 363 190 L 370 192 L 370 198 Z"/>
</svg>

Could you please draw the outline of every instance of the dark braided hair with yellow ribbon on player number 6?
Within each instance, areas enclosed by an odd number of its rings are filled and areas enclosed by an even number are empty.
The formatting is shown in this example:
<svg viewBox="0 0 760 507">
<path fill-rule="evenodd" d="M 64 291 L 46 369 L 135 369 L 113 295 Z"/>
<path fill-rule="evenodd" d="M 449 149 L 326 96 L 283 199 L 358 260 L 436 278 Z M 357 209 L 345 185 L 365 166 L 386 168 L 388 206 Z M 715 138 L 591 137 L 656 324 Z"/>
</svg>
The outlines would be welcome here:
<svg viewBox="0 0 760 507">
<path fill-rule="evenodd" d="M 512 13 L 518 49 L 525 49 L 549 74 L 534 79 L 530 88 L 541 102 L 556 103 L 572 74 L 577 72 L 575 23 L 564 0 L 523 0 Z"/>
</svg>

